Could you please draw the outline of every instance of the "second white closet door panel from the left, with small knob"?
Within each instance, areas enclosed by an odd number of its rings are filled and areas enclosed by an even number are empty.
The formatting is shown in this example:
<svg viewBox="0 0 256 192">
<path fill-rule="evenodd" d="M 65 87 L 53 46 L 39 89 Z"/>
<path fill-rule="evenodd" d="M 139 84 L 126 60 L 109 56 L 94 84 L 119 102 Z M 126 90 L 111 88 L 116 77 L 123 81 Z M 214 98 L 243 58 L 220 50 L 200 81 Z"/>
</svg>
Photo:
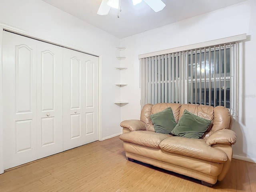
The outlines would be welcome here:
<svg viewBox="0 0 256 192">
<path fill-rule="evenodd" d="M 38 159 L 63 151 L 63 48 L 37 41 Z"/>
</svg>

